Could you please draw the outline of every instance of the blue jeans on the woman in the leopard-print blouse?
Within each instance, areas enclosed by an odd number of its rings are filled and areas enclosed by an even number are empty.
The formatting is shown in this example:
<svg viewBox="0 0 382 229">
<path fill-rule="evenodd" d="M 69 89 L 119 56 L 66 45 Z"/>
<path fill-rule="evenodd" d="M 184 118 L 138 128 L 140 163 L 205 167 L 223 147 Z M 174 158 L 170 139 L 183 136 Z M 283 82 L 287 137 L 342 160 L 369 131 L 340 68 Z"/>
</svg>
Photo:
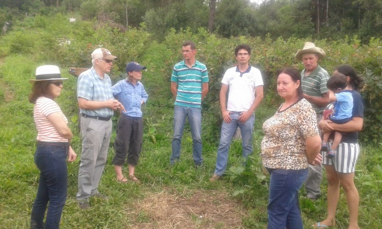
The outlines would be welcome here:
<svg viewBox="0 0 382 229">
<path fill-rule="evenodd" d="M 268 229 L 303 229 L 298 190 L 307 175 L 305 169 L 272 169 L 270 174 Z"/>
</svg>

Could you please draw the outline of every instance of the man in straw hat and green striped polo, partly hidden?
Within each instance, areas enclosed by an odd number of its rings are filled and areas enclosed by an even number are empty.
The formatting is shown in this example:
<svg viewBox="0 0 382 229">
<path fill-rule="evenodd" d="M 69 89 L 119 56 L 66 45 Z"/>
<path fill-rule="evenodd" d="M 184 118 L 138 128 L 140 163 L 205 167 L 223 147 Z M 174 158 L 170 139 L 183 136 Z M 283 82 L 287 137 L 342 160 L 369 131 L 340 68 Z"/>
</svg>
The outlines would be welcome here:
<svg viewBox="0 0 382 229">
<path fill-rule="evenodd" d="M 305 69 L 301 72 L 304 98 L 308 100 L 316 112 L 317 123 L 322 120 L 322 112 L 330 103 L 326 82 L 329 74 L 318 65 L 318 61 L 325 57 L 325 52 L 314 45 L 306 42 L 303 49 L 299 49 L 295 58 L 303 62 Z M 321 195 L 320 183 L 322 177 L 322 165 L 309 165 L 308 177 L 305 181 L 307 197 L 317 199 Z"/>
</svg>

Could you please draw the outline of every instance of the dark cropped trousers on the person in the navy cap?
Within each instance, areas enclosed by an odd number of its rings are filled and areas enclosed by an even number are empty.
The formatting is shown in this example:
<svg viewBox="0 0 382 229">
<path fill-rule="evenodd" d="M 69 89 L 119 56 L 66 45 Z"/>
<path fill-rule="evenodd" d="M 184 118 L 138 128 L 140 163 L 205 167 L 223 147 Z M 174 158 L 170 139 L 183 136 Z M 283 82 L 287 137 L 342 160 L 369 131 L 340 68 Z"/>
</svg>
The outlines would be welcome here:
<svg viewBox="0 0 382 229">
<path fill-rule="evenodd" d="M 117 136 L 114 142 L 116 155 L 113 164 L 123 166 L 127 163 L 137 165 L 141 154 L 143 138 L 143 118 L 121 115 L 117 124 Z"/>
</svg>

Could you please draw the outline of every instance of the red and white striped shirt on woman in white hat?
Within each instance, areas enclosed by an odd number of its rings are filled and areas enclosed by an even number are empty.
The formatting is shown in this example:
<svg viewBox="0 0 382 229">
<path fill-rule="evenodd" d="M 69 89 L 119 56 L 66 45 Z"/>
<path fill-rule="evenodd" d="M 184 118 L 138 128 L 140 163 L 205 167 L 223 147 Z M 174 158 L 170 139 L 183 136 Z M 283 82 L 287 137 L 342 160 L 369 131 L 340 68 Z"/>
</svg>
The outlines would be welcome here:
<svg viewBox="0 0 382 229">
<path fill-rule="evenodd" d="M 37 98 L 33 109 L 33 116 L 35 118 L 36 129 L 38 132 L 38 141 L 68 142 L 68 139 L 63 138 L 47 118 L 48 115 L 54 112 L 62 113 L 65 123 L 68 124 L 68 120 L 56 102 L 46 97 Z"/>
</svg>

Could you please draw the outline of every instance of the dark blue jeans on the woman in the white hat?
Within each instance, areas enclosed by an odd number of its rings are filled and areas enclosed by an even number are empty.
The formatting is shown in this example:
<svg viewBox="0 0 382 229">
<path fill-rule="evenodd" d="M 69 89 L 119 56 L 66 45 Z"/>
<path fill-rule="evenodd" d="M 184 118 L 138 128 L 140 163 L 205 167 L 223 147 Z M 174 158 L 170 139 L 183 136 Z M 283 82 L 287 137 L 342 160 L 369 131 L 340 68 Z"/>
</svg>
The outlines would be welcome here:
<svg viewBox="0 0 382 229">
<path fill-rule="evenodd" d="M 68 186 L 66 165 L 68 149 L 69 145 L 65 142 L 39 142 L 37 145 L 35 163 L 40 170 L 40 180 L 32 207 L 31 228 L 59 228 L 60 226 Z"/>
</svg>

